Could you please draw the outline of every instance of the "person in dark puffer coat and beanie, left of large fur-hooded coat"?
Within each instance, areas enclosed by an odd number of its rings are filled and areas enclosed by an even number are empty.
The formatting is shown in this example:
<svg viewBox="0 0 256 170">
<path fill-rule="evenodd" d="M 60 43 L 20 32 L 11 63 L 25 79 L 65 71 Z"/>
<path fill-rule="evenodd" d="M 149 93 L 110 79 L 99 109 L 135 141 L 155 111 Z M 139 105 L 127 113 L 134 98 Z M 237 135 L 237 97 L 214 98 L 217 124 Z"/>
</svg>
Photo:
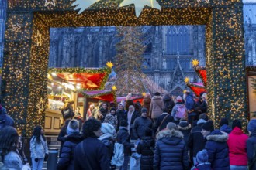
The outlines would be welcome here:
<svg viewBox="0 0 256 170">
<path fill-rule="evenodd" d="M 141 155 L 140 170 L 153 170 L 154 162 L 154 139 L 152 138 L 152 130 L 147 128 L 145 136 L 137 146 L 137 153 Z"/>
</svg>

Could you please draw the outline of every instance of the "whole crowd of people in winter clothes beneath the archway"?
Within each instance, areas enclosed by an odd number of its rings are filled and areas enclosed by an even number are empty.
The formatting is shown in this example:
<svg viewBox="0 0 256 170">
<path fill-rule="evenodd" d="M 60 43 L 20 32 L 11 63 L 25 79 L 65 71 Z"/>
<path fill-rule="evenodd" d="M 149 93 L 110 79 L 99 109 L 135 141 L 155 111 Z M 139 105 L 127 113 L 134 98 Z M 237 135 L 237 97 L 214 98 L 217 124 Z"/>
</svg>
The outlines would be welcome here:
<svg viewBox="0 0 256 170">
<path fill-rule="evenodd" d="M 242 127 L 240 120 L 223 117 L 217 129 L 209 120 L 203 94 L 194 97 L 187 91 L 173 99 L 168 93 L 147 93 L 140 104 L 129 93 L 117 108 L 104 102 L 91 105 L 85 122 L 72 115 L 64 118 L 57 138 L 57 169 L 256 169 L 256 119 Z M 2 128 L 3 167 L 22 169 L 17 144 L 16 129 Z M 33 169 L 42 169 L 48 148 L 40 126 L 34 128 L 30 151 Z"/>
</svg>

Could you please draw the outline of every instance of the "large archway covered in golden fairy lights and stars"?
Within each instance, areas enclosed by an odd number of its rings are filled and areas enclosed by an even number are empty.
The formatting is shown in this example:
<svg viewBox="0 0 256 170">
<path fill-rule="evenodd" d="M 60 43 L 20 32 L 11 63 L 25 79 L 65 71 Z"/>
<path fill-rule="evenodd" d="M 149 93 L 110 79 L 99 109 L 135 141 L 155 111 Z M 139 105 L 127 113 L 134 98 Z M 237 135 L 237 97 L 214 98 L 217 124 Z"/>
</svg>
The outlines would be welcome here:
<svg viewBox="0 0 256 170">
<path fill-rule="evenodd" d="M 49 31 L 67 26 L 206 25 L 209 113 L 216 122 L 221 117 L 247 121 L 242 0 L 138 0 L 133 1 L 138 17 L 129 3 L 119 8 L 121 2 L 129 1 L 9 2 L 2 100 L 19 131 L 29 134 L 35 124 L 44 123 L 43 114 L 36 116 L 36 104 L 47 95 Z M 78 14 L 72 3 L 78 8 L 91 6 Z"/>
</svg>

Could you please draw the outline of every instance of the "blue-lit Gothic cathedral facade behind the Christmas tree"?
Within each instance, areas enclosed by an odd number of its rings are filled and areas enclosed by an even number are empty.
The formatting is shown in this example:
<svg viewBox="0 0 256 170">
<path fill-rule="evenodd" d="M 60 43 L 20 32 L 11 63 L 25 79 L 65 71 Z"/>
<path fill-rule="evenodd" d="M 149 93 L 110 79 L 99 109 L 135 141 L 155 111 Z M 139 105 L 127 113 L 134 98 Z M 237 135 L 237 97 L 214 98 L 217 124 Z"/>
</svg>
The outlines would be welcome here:
<svg viewBox="0 0 256 170">
<path fill-rule="evenodd" d="M 2 66 L 6 0 L 0 1 L 0 64 Z M 186 88 L 184 78 L 199 82 L 192 59 L 205 59 L 205 26 L 141 26 L 144 73 L 176 95 Z M 247 66 L 256 66 L 256 2 L 244 3 Z M 49 67 L 100 67 L 116 56 L 116 27 L 51 28 Z"/>
</svg>

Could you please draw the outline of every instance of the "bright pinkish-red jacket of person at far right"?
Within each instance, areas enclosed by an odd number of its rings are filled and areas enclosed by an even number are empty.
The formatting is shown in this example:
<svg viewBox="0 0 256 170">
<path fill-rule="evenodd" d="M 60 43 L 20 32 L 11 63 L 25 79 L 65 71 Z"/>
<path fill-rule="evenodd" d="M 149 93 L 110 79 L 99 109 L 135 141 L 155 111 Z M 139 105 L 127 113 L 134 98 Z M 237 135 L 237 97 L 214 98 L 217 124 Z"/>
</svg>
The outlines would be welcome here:
<svg viewBox="0 0 256 170">
<path fill-rule="evenodd" d="M 247 134 L 235 127 L 229 134 L 227 145 L 229 147 L 230 165 L 247 166 L 246 141 Z"/>
</svg>

